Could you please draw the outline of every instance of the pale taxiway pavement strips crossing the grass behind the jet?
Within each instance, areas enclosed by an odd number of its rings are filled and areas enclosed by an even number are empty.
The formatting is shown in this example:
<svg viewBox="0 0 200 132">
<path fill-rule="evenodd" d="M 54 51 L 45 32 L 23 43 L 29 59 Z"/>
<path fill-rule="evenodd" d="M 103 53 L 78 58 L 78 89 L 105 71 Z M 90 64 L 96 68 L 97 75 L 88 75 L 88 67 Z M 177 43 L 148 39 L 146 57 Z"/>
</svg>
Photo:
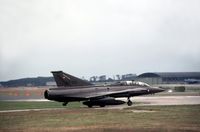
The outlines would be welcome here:
<svg viewBox="0 0 200 132">
<path fill-rule="evenodd" d="M 118 100 L 127 101 L 126 98 L 118 98 Z M 134 106 L 151 106 L 151 105 L 195 105 L 200 104 L 200 96 L 138 96 L 132 97 Z M 16 99 L 16 100 L 4 100 L 4 101 L 48 101 L 46 99 L 38 98 L 38 99 Z M 62 105 L 62 104 L 60 104 Z M 128 108 L 127 104 L 123 105 L 115 105 L 115 106 L 106 106 L 106 107 L 95 107 L 95 109 L 124 109 Z M 58 109 L 66 109 L 63 108 L 47 108 L 47 109 L 23 109 L 23 110 L 5 110 L 0 111 L 0 113 L 10 113 L 10 112 L 25 112 L 25 111 L 44 111 L 44 110 L 58 110 Z M 141 111 L 140 111 L 141 112 Z"/>
</svg>

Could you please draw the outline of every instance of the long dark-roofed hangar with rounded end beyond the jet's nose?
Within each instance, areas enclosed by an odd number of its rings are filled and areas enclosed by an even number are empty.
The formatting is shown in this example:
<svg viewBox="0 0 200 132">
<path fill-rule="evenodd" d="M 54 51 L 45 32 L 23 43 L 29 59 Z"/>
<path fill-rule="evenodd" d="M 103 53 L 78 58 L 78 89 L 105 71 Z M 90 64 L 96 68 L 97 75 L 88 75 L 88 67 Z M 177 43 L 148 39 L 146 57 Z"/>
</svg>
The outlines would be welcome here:
<svg viewBox="0 0 200 132">
<path fill-rule="evenodd" d="M 200 72 L 148 72 L 140 74 L 136 80 L 148 84 L 177 84 L 188 79 L 200 80 Z"/>
</svg>

